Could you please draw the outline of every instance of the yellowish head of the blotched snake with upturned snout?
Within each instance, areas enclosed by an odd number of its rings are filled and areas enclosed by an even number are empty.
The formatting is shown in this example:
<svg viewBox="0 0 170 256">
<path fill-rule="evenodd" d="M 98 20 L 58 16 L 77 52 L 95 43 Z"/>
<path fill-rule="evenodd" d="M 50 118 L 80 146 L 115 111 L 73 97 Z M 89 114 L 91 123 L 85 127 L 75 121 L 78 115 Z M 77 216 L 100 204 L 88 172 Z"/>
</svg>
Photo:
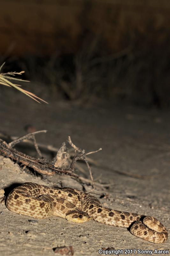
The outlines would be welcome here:
<svg viewBox="0 0 170 256">
<path fill-rule="evenodd" d="M 66 214 L 66 220 L 76 222 L 76 223 L 83 223 L 91 219 L 92 217 L 90 217 L 86 212 L 70 211 Z"/>
</svg>

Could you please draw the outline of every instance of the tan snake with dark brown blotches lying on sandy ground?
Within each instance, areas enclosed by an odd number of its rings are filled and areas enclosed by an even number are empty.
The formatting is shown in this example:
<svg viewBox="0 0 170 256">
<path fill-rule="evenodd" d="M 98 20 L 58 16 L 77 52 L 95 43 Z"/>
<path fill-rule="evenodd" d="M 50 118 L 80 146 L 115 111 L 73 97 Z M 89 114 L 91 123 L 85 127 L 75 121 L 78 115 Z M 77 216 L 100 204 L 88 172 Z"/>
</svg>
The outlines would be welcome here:
<svg viewBox="0 0 170 256">
<path fill-rule="evenodd" d="M 155 244 L 164 243 L 168 238 L 166 228 L 154 217 L 104 207 L 97 197 L 74 188 L 26 182 L 9 193 L 6 206 L 12 212 L 37 219 L 54 215 L 76 223 L 95 220 L 128 228 L 133 235 Z"/>
</svg>

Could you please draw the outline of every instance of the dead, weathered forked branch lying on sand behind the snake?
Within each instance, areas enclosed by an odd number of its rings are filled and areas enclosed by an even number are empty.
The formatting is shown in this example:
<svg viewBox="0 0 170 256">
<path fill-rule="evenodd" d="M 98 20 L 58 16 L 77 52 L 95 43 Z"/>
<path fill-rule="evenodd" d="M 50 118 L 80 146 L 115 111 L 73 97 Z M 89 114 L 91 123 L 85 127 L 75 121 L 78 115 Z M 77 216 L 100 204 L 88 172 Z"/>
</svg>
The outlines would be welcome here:
<svg viewBox="0 0 170 256">
<path fill-rule="evenodd" d="M 76 164 L 77 160 L 83 159 L 88 167 L 90 177 L 92 180 L 92 187 L 94 188 L 94 182 L 93 182 L 93 178 L 92 178 L 91 168 L 85 158 L 85 150 L 76 147 L 71 142 L 70 136 L 69 136 L 68 140 L 69 140 L 70 145 L 75 149 L 75 154 L 72 158 L 70 167 L 68 169 L 63 168 L 63 165 L 66 163 L 67 158 L 69 156 L 68 149 L 66 148 L 65 143 L 62 144 L 62 146 L 58 150 L 56 156 L 50 161 L 48 161 L 47 159 L 44 159 L 44 158 L 34 158 L 32 156 L 28 156 L 22 152 L 19 152 L 15 148 L 13 148 L 14 145 L 16 145 L 17 143 L 19 143 L 25 139 L 28 139 L 28 138 L 33 139 L 35 148 L 36 148 L 37 152 L 39 153 L 39 155 L 41 156 L 41 152 L 40 152 L 40 150 L 38 148 L 38 144 L 35 140 L 35 134 L 40 133 L 40 132 L 47 132 L 47 131 L 44 130 L 44 131 L 28 133 L 25 136 L 22 136 L 20 138 L 17 138 L 16 140 L 13 140 L 9 144 L 6 143 L 4 140 L 0 139 L 0 155 L 2 155 L 4 157 L 10 157 L 12 160 L 17 161 L 18 163 L 23 164 L 27 167 L 31 167 L 36 172 L 39 172 L 41 174 L 55 175 L 55 173 L 62 173 L 62 174 L 70 175 L 75 178 L 78 177 L 77 175 L 73 174 L 75 164 Z"/>
</svg>

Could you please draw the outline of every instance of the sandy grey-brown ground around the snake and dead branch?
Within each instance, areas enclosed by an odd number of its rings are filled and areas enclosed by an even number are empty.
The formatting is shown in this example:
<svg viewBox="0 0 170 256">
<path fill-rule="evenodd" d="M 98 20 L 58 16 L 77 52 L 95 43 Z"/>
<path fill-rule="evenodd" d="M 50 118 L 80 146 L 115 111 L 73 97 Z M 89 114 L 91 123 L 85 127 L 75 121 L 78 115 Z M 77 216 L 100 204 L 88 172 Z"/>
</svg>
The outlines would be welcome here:
<svg viewBox="0 0 170 256">
<path fill-rule="evenodd" d="M 48 133 L 37 136 L 38 142 L 59 147 L 70 135 L 72 141 L 86 151 L 101 147 L 102 151 L 92 155 L 100 167 L 92 165 L 92 172 L 94 180 L 109 185 L 104 190 L 97 188 L 93 195 L 107 194 L 106 198 L 100 199 L 105 206 L 152 215 L 170 230 L 169 112 L 103 103 L 77 106 L 54 100 L 48 100 L 49 105 L 40 105 L 19 93 L 12 98 L 11 93 L 11 90 L 3 91 L 0 96 L 1 132 L 21 136 L 26 134 L 24 126 L 32 124 L 37 130 L 48 130 Z M 84 164 L 81 166 L 85 169 Z M 114 170 L 148 177 L 137 179 Z M 88 172 L 79 174 L 89 177 Z M 0 189 L 7 192 L 26 181 L 83 189 L 70 177 L 41 178 L 22 171 L 18 164 L 3 157 L 0 158 L 0 180 Z M 57 255 L 53 248 L 58 246 L 73 246 L 75 256 L 99 255 L 99 249 L 108 247 L 153 250 L 152 255 L 156 255 L 153 254 L 155 249 L 170 248 L 169 240 L 164 244 L 149 243 L 133 236 L 126 228 L 95 221 L 74 224 L 55 216 L 36 223 L 29 220 L 33 218 L 17 215 L 4 203 L 0 204 L 1 256 Z M 139 255 L 137 251 L 135 254 Z M 125 251 L 119 255 L 126 255 Z"/>
</svg>

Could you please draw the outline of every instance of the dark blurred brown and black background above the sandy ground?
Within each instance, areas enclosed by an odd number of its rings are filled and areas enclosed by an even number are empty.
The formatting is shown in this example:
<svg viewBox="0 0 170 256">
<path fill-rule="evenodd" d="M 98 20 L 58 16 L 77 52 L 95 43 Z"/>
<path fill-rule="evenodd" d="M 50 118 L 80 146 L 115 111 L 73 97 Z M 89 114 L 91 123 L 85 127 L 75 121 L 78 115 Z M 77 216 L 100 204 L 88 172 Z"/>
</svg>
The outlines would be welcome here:
<svg viewBox="0 0 170 256">
<path fill-rule="evenodd" d="M 44 100 L 169 108 L 169 1 L 0 3 L 3 71 L 25 70 Z"/>
</svg>

